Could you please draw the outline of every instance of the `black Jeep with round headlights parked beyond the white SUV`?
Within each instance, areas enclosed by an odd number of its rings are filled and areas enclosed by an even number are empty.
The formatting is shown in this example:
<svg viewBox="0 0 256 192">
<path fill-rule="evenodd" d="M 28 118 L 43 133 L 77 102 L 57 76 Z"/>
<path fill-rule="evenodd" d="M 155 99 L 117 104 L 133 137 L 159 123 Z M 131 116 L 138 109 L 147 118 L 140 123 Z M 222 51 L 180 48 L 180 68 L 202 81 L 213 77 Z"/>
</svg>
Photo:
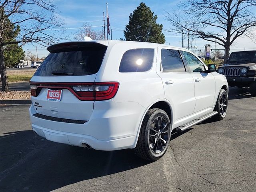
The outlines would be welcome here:
<svg viewBox="0 0 256 192">
<path fill-rule="evenodd" d="M 226 76 L 229 86 L 250 87 L 250 94 L 256 96 L 256 51 L 232 52 L 218 73 Z"/>
</svg>

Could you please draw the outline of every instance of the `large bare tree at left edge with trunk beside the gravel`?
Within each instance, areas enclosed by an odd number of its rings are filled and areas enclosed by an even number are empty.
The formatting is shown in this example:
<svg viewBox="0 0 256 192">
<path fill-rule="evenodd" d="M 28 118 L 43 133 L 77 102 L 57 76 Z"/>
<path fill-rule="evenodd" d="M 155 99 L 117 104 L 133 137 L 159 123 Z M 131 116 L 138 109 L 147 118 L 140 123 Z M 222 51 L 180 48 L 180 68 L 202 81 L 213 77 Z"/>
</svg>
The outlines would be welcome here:
<svg viewBox="0 0 256 192">
<path fill-rule="evenodd" d="M 8 23 L 8 24 L 7 24 Z M 52 0 L 1 0 L 0 2 L 0 73 L 2 90 L 8 90 L 4 46 L 37 43 L 48 46 L 64 39 L 56 30 L 63 25 Z"/>
</svg>

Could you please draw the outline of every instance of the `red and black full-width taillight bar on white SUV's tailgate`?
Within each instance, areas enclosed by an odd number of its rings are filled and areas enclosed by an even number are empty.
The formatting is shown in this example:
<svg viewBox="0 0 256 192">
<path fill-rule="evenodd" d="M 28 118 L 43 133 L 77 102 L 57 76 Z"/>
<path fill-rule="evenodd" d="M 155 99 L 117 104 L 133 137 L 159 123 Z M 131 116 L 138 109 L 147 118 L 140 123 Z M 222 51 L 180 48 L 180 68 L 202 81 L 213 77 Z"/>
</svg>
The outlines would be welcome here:
<svg viewBox="0 0 256 192">
<path fill-rule="evenodd" d="M 30 82 L 32 96 L 36 95 L 37 88 L 68 89 L 79 100 L 101 101 L 113 98 L 118 90 L 118 82 L 97 82 L 97 83 L 42 83 Z M 40 90 L 38 90 L 39 94 Z"/>
</svg>

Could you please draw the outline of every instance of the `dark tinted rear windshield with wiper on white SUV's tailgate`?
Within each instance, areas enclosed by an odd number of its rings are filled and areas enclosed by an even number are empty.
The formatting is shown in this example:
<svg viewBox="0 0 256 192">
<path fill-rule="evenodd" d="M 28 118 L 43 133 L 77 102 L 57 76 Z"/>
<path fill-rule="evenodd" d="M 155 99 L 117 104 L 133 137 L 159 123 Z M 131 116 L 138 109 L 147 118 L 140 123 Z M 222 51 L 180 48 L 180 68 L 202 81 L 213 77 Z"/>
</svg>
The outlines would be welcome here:
<svg viewBox="0 0 256 192">
<path fill-rule="evenodd" d="M 50 53 L 34 76 L 91 75 L 100 69 L 107 47 L 68 48 Z"/>
</svg>

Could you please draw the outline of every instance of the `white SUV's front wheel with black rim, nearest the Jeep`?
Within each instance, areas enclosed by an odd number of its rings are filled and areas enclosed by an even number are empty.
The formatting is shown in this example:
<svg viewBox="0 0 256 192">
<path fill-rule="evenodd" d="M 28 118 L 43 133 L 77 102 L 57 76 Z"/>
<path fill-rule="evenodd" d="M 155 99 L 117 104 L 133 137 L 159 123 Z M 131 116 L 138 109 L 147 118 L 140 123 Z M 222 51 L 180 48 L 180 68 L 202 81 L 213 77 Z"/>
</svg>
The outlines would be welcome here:
<svg viewBox="0 0 256 192">
<path fill-rule="evenodd" d="M 220 90 L 216 105 L 214 107 L 214 111 L 217 111 L 214 117 L 216 120 L 222 120 L 226 117 L 228 110 L 228 94 L 224 89 Z"/>
</svg>

